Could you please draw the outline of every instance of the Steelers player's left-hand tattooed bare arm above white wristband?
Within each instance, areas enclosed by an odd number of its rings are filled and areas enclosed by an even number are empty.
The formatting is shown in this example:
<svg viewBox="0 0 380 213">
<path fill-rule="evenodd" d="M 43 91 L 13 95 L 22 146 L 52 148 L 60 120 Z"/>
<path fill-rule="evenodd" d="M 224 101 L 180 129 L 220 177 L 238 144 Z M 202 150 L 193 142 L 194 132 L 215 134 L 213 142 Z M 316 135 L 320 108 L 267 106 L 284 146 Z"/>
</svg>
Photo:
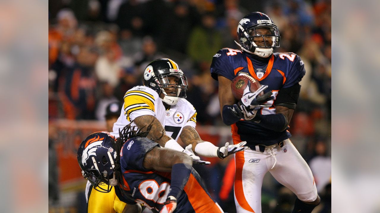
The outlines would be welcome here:
<svg viewBox="0 0 380 213">
<path fill-rule="evenodd" d="M 151 115 L 143 115 L 136 117 L 134 120 L 135 124 L 142 131 L 146 131 L 149 124 L 152 124 L 152 128 L 149 131 L 147 138 L 154 140 L 160 146 L 165 147 L 167 141 L 173 139 L 166 135 L 165 129 L 158 119 Z M 159 139 L 158 139 L 159 138 Z"/>
</svg>

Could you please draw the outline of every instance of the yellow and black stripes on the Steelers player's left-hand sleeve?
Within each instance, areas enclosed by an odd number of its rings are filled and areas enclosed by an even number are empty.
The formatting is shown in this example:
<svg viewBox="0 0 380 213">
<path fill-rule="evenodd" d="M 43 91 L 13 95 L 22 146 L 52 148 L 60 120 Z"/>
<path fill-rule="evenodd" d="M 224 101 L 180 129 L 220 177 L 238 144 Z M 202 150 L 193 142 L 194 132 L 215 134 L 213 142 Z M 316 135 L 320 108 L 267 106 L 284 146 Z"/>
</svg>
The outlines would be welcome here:
<svg viewBox="0 0 380 213">
<path fill-rule="evenodd" d="M 154 112 L 154 96 L 141 90 L 131 90 L 124 95 L 124 114 L 130 120 L 130 114 L 137 110 L 151 110 Z"/>
</svg>

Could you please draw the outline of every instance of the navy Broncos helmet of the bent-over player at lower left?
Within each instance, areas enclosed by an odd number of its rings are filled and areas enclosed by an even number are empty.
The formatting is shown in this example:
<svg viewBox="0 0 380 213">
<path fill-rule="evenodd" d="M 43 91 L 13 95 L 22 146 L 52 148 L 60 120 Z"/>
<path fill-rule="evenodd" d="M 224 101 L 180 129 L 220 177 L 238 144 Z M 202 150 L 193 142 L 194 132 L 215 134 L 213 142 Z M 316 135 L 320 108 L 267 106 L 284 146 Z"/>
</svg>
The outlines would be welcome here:
<svg viewBox="0 0 380 213">
<path fill-rule="evenodd" d="M 82 175 L 97 191 L 108 193 L 117 185 L 115 178 L 115 138 L 108 132 L 95 132 L 87 136 L 78 149 L 78 163 Z"/>
</svg>

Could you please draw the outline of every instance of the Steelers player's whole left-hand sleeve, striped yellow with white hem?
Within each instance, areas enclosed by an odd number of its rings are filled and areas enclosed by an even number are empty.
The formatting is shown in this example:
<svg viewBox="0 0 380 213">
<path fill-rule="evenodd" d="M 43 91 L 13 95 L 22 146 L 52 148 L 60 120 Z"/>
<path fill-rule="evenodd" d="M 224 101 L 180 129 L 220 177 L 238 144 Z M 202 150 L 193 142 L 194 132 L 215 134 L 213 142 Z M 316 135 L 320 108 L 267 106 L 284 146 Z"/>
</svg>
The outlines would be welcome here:
<svg viewBox="0 0 380 213">
<path fill-rule="evenodd" d="M 131 89 L 124 95 L 124 114 L 128 121 L 142 115 L 155 116 L 155 97 L 149 92 Z"/>
</svg>

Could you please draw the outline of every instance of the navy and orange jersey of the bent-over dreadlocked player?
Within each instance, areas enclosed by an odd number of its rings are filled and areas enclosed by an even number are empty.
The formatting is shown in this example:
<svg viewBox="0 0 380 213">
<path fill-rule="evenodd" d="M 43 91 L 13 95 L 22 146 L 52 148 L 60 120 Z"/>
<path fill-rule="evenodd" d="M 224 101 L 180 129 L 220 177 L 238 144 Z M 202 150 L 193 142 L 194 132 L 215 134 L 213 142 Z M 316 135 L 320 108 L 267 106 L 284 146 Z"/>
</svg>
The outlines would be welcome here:
<svg viewBox="0 0 380 213">
<path fill-rule="evenodd" d="M 131 138 L 123 145 L 120 164 L 126 186 L 124 190 L 128 197 L 153 211 L 159 211 L 170 191 L 171 172 L 149 170 L 142 166 L 144 156 L 154 147 L 160 147 L 160 145 L 147 138 Z M 133 203 L 129 202 L 129 204 Z M 207 192 L 199 174 L 192 169 L 184 190 L 177 199 L 177 208 L 174 213 L 207 212 L 221 213 L 223 211 Z"/>
</svg>

